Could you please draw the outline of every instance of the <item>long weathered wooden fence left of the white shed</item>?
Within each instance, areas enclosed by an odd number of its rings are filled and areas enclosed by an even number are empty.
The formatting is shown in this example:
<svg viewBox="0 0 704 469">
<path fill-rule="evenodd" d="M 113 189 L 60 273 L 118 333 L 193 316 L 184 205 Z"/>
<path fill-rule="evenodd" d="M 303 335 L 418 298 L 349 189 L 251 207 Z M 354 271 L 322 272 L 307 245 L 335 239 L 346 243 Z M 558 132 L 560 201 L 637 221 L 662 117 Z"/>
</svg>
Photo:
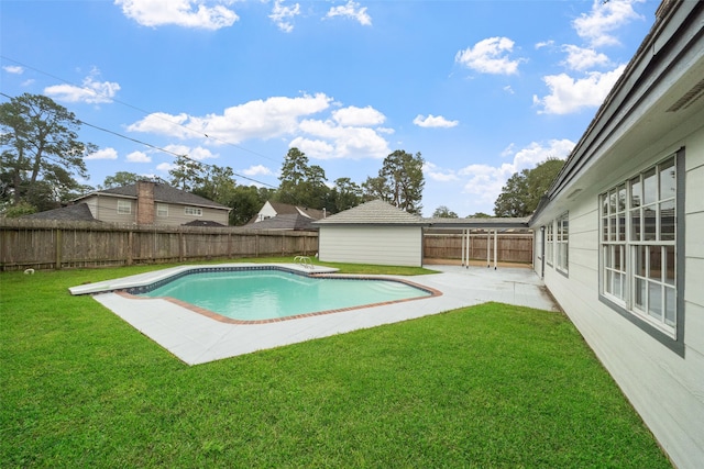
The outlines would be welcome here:
<svg viewBox="0 0 704 469">
<path fill-rule="evenodd" d="M 315 255 L 316 232 L 0 220 L 0 270 Z"/>
</svg>

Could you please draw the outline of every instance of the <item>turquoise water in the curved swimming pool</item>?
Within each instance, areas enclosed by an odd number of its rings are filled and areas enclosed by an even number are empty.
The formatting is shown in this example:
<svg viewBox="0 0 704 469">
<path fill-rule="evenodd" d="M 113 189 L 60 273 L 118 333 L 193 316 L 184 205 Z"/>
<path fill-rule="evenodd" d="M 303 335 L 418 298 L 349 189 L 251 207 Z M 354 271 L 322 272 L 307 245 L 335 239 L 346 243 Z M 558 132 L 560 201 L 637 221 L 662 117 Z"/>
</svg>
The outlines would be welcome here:
<svg viewBox="0 0 704 469">
<path fill-rule="evenodd" d="M 189 273 L 139 297 L 168 297 L 226 317 L 261 321 L 431 295 L 375 279 L 312 278 L 285 270 Z"/>
</svg>

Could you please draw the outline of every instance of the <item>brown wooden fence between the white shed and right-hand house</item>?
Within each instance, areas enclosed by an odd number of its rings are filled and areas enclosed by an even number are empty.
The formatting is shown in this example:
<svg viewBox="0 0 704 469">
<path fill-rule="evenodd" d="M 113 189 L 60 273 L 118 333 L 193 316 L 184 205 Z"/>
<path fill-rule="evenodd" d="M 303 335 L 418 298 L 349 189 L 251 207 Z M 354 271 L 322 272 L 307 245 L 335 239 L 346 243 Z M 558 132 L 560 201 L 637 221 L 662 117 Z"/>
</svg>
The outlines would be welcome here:
<svg viewBox="0 0 704 469">
<path fill-rule="evenodd" d="M 486 233 L 470 236 L 470 259 L 486 260 L 486 249 L 494 260 L 494 235 L 491 241 Z M 532 234 L 498 234 L 497 260 L 501 263 L 532 263 Z M 462 235 L 430 234 L 424 236 L 424 258 L 426 259 L 458 259 L 462 258 Z"/>
</svg>

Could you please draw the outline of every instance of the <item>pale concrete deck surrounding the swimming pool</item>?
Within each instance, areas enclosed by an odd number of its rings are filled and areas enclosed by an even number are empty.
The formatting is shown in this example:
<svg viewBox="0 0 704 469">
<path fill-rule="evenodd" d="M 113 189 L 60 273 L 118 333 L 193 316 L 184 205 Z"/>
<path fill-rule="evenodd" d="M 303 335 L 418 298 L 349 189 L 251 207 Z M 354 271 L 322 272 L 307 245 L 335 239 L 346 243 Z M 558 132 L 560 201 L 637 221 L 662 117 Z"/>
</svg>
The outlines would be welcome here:
<svg viewBox="0 0 704 469">
<path fill-rule="evenodd" d="M 244 266 L 238 264 L 234 266 Z M 185 266 L 194 268 L 197 266 Z M 213 267 L 213 266 L 207 266 Z M 286 268 L 295 267 L 286 265 Z M 414 283 L 442 292 L 440 297 L 360 308 L 355 310 L 280 321 L 268 324 L 227 324 L 161 299 L 130 299 L 111 290 L 125 284 L 150 283 L 173 275 L 174 269 L 141 273 L 109 282 L 74 287 L 73 294 L 91 293 L 94 298 L 177 358 L 199 365 L 256 350 L 328 337 L 361 328 L 392 324 L 438 314 L 458 308 L 496 301 L 548 311 L 559 311 L 546 292 L 542 280 L 529 268 L 428 266 L 440 273 L 402 277 Z M 310 269 L 299 268 L 310 272 Z M 332 269 L 316 269 L 316 272 Z M 370 276 L 364 276 L 370 277 Z M 100 293 L 100 291 L 106 291 Z"/>
</svg>

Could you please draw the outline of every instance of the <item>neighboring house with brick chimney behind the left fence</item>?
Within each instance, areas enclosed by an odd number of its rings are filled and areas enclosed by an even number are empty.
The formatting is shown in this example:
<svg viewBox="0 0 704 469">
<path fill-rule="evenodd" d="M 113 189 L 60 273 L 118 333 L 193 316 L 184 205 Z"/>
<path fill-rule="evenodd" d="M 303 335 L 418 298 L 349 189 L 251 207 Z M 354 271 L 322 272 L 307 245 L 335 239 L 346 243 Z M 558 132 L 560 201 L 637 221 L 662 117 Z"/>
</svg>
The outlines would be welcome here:
<svg viewBox="0 0 704 469">
<path fill-rule="evenodd" d="M 140 181 L 91 192 L 76 199 L 74 205 L 35 213 L 30 217 L 138 225 L 227 226 L 230 210 L 170 186 Z"/>
</svg>

